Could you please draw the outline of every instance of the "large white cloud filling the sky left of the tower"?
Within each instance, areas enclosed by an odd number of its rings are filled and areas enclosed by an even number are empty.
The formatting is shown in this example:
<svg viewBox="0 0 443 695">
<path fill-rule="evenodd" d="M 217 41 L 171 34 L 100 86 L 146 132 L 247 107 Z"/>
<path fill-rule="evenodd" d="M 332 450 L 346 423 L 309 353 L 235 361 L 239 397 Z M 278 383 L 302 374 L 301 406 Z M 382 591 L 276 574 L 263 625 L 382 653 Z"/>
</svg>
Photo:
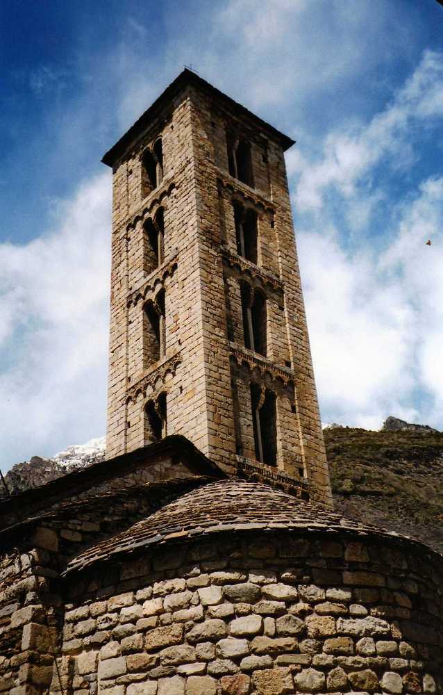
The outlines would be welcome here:
<svg viewBox="0 0 443 695">
<path fill-rule="evenodd" d="M 47 234 L 0 245 L 3 466 L 104 430 L 110 188 L 83 181 Z"/>
</svg>

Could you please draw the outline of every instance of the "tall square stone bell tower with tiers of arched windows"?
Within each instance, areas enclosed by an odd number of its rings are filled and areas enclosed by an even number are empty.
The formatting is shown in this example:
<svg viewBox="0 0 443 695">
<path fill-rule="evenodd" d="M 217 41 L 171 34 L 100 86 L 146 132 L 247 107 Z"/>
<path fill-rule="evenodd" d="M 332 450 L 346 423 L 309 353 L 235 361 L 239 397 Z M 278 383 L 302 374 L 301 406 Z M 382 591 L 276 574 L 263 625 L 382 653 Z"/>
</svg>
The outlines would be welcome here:
<svg viewBox="0 0 443 695">
<path fill-rule="evenodd" d="M 331 505 L 284 152 L 184 70 L 113 171 L 108 458 L 183 434 L 227 473 Z"/>
</svg>

